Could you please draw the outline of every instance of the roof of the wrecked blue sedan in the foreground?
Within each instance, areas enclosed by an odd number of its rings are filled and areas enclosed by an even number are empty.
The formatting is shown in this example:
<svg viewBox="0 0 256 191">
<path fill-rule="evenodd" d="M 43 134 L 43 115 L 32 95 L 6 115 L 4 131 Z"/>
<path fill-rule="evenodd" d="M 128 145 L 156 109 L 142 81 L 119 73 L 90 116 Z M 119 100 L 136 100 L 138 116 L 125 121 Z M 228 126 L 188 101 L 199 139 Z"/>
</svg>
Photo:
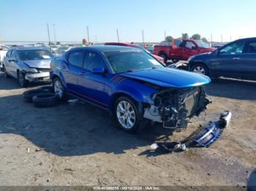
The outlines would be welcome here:
<svg viewBox="0 0 256 191">
<path fill-rule="evenodd" d="M 94 50 L 98 52 L 110 52 L 110 51 L 120 51 L 120 50 L 135 50 L 138 51 L 137 48 L 134 47 L 125 47 L 125 46 L 116 46 L 116 45 L 99 45 L 99 46 L 91 46 L 91 47 L 75 47 L 72 48 L 74 50 Z"/>
</svg>

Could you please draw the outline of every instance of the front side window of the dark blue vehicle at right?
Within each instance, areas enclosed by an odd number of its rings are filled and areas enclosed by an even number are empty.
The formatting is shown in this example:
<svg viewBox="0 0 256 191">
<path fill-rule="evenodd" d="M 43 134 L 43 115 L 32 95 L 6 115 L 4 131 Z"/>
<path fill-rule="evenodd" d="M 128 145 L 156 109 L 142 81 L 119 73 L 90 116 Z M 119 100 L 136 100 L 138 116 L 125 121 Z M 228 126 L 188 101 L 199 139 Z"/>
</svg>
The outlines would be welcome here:
<svg viewBox="0 0 256 191">
<path fill-rule="evenodd" d="M 244 53 L 245 42 L 234 42 L 219 50 L 220 55 L 236 55 Z"/>
</svg>

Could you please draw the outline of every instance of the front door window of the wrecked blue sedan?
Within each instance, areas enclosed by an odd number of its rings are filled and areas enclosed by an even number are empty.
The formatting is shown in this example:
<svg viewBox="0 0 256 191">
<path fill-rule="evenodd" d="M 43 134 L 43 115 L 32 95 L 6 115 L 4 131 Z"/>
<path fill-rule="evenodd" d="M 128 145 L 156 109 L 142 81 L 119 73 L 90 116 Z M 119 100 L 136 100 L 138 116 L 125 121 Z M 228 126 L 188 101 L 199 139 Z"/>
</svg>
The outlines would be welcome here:
<svg viewBox="0 0 256 191">
<path fill-rule="evenodd" d="M 104 63 L 100 55 L 96 52 L 87 52 L 84 58 L 84 69 L 92 71 L 94 68 L 104 68 Z"/>
</svg>

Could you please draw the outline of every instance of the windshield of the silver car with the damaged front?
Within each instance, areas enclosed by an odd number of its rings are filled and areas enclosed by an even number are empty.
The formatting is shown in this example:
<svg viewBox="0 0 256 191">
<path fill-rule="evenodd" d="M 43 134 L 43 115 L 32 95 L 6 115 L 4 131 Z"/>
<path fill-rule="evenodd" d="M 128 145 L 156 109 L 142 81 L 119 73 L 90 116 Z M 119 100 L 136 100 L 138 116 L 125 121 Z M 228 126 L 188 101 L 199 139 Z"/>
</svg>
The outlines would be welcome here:
<svg viewBox="0 0 256 191">
<path fill-rule="evenodd" d="M 53 55 L 47 50 L 18 50 L 17 52 L 21 61 L 34 61 L 53 58 Z"/>
</svg>

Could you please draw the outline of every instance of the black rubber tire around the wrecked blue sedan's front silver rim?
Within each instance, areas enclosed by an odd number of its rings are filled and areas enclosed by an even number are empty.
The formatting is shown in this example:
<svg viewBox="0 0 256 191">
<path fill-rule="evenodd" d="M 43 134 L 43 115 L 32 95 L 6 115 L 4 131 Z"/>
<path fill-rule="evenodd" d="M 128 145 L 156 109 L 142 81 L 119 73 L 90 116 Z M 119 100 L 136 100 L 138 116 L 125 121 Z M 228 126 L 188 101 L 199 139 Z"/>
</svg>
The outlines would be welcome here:
<svg viewBox="0 0 256 191">
<path fill-rule="evenodd" d="M 124 128 L 124 126 L 121 125 L 121 122 L 119 122 L 119 120 L 118 120 L 118 114 L 117 114 L 118 104 L 120 104 L 122 101 L 129 103 L 129 105 L 132 106 L 132 109 L 135 113 L 135 123 L 131 128 Z M 113 112 L 114 112 L 114 117 L 116 119 L 116 122 L 117 122 L 118 126 L 120 128 L 122 128 L 123 130 L 125 130 L 127 132 L 131 132 L 131 133 L 135 133 L 138 130 L 138 128 L 140 128 L 140 126 L 143 125 L 143 117 L 139 112 L 138 104 L 136 104 L 135 101 L 133 101 L 131 98 L 128 98 L 127 96 L 121 96 L 121 97 L 117 98 L 113 110 L 114 110 Z M 127 122 L 127 120 L 125 120 L 125 122 Z"/>
</svg>

